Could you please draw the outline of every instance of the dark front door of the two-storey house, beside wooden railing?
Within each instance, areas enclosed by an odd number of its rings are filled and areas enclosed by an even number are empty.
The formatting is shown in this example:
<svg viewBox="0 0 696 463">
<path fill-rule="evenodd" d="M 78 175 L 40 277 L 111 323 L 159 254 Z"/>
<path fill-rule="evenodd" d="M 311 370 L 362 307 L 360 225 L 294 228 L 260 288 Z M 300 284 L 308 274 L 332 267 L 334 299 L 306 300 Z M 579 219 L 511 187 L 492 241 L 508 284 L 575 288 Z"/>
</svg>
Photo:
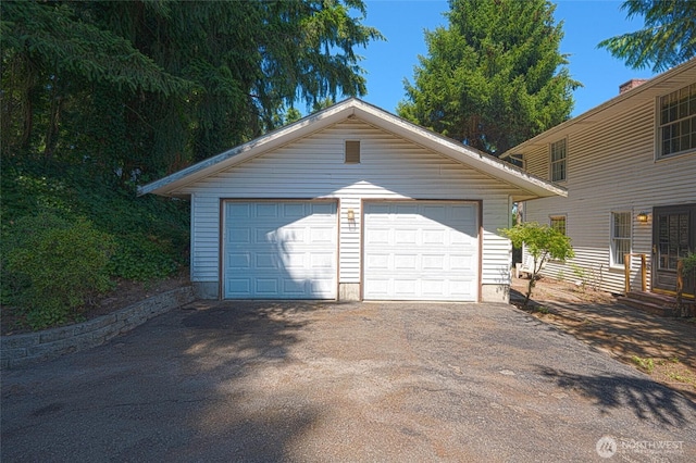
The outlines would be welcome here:
<svg viewBox="0 0 696 463">
<path fill-rule="evenodd" d="M 652 290 L 676 292 L 676 263 L 696 252 L 696 204 L 652 211 Z M 694 297 L 694 275 L 685 275 L 684 293 Z"/>
</svg>

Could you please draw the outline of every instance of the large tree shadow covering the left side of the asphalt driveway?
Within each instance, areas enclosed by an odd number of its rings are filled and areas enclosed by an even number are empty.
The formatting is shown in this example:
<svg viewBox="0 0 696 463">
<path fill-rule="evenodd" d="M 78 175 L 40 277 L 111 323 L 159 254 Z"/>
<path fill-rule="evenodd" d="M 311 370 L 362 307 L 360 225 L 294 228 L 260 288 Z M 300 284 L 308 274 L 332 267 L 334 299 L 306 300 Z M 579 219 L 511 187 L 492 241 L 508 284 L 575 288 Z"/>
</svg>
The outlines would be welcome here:
<svg viewBox="0 0 696 463">
<path fill-rule="evenodd" d="M 263 381 L 311 324 L 285 316 L 298 311 L 197 302 L 107 346 L 3 372 L 2 460 L 291 459 L 322 411 L 293 384 L 276 396 Z"/>
</svg>

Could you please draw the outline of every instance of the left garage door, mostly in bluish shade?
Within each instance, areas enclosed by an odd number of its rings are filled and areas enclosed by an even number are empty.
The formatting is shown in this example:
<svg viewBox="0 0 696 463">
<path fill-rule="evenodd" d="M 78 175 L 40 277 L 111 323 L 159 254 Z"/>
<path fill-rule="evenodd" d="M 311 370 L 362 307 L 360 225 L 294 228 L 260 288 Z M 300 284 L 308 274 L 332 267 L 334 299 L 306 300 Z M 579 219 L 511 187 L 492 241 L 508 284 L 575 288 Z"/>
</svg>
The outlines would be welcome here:
<svg viewBox="0 0 696 463">
<path fill-rule="evenodd" d="M 225 299 L 335 299 L 335 202 L 227 201 Z"/>
</svg>

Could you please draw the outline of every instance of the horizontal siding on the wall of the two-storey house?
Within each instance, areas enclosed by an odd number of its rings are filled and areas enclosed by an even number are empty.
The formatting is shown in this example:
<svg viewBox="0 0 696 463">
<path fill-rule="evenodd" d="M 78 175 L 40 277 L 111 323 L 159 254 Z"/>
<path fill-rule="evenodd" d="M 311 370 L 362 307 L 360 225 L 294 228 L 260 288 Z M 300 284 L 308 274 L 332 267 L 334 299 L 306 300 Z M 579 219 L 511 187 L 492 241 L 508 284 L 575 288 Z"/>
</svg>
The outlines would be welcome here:
<svg viewBox="0 0 696 463">
<path fill-rule="evenodd" d="M 548 178 L 548 148 L 535 147 L 525 160 L 532 174 Z M 654 207 L 696 202 L 696 153 L 655 161 L 655 104 L 649 102 L 572 132 L 564 186 L 568 198 L 525 204 L 526 221 L 548 224 L 550 215 L 568 216 L 575 259 L 567 265 L 551 263 L 544 273 L 580 279 L 576 265 L 593 285 L 623 292 L 623 267 L 610 266 L 611 213 L 632 213 L 632 252 L 647 254 L 649 268 L 652 224 L 638 223 L 636 215 Z M 637 256 L 632 260 L 633 288 L 639 288 L 639 262 Z M 648 273 L 648 287 L 649 279 Z"/>
</svg>

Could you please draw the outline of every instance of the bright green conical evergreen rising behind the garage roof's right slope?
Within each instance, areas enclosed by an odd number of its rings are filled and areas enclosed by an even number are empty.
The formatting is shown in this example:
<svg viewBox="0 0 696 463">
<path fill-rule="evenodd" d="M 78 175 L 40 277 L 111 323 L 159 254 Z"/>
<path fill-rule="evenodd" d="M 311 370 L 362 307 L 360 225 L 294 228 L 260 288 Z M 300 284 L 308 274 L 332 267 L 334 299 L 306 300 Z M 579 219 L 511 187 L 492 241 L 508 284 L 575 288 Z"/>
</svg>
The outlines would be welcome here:
<svg viewBox="0 0 696 463">
<path fill-rule="evenodd" d="M 449 26 L 425 33 L 399 115 L 488 153 L 567 120 L 570 77 L 562 23 L 546 0 L 450 0 Z"/>
</svg>

